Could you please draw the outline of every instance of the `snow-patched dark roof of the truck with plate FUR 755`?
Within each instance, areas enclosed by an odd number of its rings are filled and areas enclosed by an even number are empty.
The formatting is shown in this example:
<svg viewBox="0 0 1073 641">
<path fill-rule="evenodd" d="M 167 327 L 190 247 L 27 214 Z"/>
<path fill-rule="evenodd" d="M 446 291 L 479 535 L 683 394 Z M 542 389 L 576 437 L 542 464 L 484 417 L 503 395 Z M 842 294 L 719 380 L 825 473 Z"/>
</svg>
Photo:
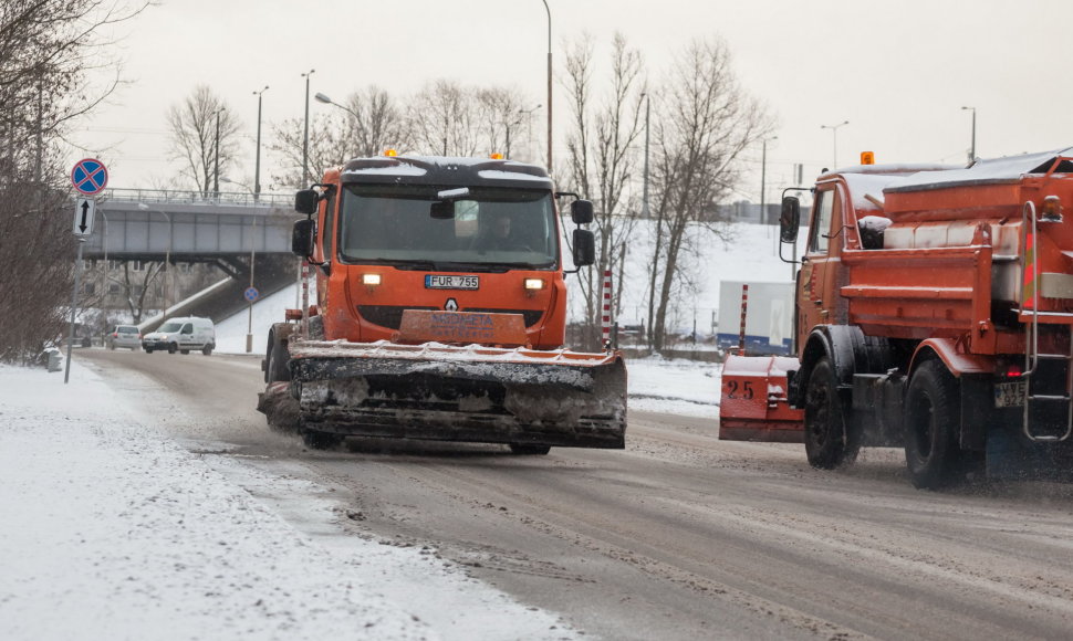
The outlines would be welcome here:
<svg viewBox="0 0 1073 641">
<path fill-rule="evenodd" d="M 525 187 L 551 189 L 551 178 L 543 167 L 489 158 L 448 156 L 378 156 L 354 158 L 343 166 L 344 182 L 384 182 L 414 185 L 458 185 L 487 187 Z"/>
</svg>

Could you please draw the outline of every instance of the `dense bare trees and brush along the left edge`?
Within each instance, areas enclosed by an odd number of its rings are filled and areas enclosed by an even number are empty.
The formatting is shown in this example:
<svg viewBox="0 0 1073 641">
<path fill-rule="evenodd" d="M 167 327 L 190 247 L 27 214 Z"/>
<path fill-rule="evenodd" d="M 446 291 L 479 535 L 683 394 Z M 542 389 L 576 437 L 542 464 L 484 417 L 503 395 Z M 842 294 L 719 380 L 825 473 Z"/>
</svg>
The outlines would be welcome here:
<svg viewBox="0 0 1073 641">
<path fill-rule="evenodd" d="M 75 239 L 63 136 L 116 86 L 86 83 L 107 60 L 104 34 L 144 3 L 0 2 L 0 360 L 28 361 L 64 328 Z M 118 74 L 118 72 L 116 72 Z M 88 88 L 87 88 L 88 87 Z"/>
</svg>

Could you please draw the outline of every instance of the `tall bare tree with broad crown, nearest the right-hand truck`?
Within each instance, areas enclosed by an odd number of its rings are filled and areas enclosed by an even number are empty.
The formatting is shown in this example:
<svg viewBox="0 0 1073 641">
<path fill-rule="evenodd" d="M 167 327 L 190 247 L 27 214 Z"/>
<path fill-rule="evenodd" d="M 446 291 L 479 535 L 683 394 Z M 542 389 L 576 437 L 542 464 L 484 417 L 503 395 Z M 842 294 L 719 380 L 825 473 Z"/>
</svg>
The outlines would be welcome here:
<svg viewBox="0 0 1073 641">
<path fill-rule="evenodd" d="M 742 151 L 772 128 L 767 109 L 738 84 L 719 39 L 696 41 L 678 57 L 659 99 L 654 195 L 658 219 L 653 267 L 659 274 L 653 348 L 663 349 L 676 288 L 688 284 L 686 258 L 699 251 L 698 225 L 726 235 L 716 202 L 740 178 Z"/>
</svg>

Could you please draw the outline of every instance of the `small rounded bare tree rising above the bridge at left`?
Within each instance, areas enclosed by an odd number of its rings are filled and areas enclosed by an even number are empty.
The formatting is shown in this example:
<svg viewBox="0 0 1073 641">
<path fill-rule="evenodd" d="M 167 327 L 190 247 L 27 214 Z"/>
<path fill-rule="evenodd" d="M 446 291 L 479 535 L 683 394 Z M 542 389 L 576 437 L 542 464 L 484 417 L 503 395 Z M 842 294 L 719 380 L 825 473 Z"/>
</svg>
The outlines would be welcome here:
<svg viewBox="0 0 1073 641">
<path fill-rule="evenodd" d="M 205 196 L 219 188 L 219 179 L 236 165 L 239 153 L 238 116 L 206 85 L 198 85 L 168 112 L 173 159 Z"/>
</svg>

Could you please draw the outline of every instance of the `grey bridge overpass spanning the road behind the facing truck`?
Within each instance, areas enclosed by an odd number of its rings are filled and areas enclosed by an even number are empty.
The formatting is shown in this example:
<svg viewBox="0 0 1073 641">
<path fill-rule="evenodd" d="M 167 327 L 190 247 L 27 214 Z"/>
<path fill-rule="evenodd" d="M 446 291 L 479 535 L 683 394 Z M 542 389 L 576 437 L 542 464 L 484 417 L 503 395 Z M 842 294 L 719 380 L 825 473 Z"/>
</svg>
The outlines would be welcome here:
<svg viewBox="0 0 1073 641">
<path fill-rule="evenodd" d="M 199 315 L 221 320 L 248 305 L 253 284 L 268 296 L 294 282 L 291 225 L 294 195 L 152 189 L 106 189 L 96 197 L 93 233 L 83 258 L 107 261 L 210 263 L 231 277 L 226 286 L 198 296 L 170 316 Z"/>
</svg>

